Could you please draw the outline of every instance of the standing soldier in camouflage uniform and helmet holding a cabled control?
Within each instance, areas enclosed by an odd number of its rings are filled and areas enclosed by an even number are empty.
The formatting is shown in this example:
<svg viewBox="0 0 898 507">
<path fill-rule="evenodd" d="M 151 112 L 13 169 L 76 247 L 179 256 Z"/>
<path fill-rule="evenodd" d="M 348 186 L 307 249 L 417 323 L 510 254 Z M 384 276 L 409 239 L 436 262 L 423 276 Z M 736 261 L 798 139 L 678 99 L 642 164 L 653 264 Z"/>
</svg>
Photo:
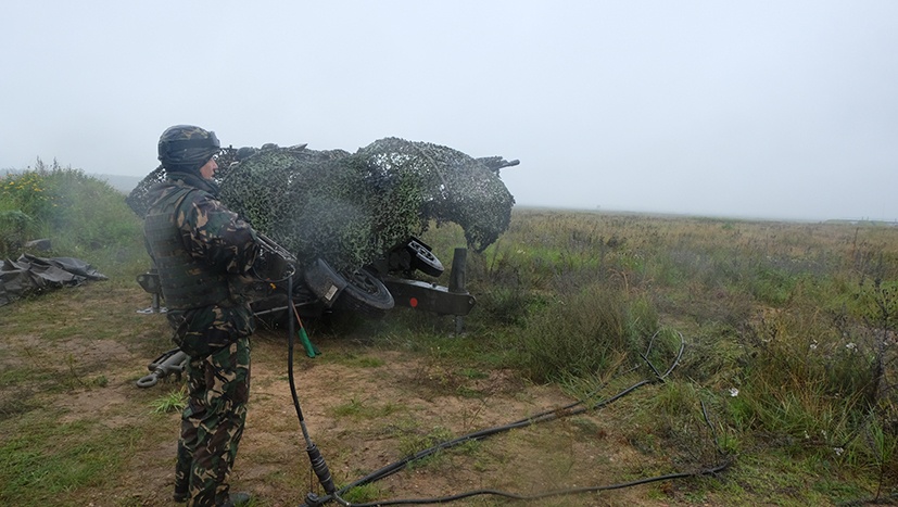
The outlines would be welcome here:
<svg viewBox="0 0 898 507">
<path fill-rule="evenodd" d="M 213 176 L 220 145 L 190 125 L 166 129 L 159 160 L 167 179 L 150 190 L 143 232 L 159 269 L 174 341 L 190 356 L 181 414 L 176 502 L 233 506 L 228 477 L 246 419 L 250 342 L 255 324 L 236 287 L 260 254 L 255 231 L 218 200 Z"/>
</svg>

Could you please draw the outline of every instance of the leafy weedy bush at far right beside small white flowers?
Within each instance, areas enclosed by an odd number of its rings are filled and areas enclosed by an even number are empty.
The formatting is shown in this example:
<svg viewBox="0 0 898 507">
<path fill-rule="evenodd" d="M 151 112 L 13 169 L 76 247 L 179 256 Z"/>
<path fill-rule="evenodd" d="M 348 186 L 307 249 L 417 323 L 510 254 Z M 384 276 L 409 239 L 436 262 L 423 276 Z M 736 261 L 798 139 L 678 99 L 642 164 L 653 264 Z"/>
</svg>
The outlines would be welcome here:
<svg viewBox="0 0 898 507">
<path fill-rule="evenodd" d="M 733 406 L 748 427 L 833 447 L 875 403 L 875 355 L 814 308 L 767 315 L 747 338 L 751 352 Z"/>
</svg>

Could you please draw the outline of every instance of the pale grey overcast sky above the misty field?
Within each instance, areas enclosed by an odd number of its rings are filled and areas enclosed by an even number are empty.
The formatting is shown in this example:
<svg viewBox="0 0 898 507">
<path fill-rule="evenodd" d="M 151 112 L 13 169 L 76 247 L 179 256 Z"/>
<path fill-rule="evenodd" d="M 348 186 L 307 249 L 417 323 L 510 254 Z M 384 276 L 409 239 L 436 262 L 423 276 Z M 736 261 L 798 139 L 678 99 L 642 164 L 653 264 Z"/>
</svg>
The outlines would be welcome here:
<svg viewBox="0 0 898 507">
<path fill-rule="evenodd" d="M 7 1 L 0 169 L 224 144 L 519 159 L 520 205 L 898 219 L 898 1 Z"/>
</svg>

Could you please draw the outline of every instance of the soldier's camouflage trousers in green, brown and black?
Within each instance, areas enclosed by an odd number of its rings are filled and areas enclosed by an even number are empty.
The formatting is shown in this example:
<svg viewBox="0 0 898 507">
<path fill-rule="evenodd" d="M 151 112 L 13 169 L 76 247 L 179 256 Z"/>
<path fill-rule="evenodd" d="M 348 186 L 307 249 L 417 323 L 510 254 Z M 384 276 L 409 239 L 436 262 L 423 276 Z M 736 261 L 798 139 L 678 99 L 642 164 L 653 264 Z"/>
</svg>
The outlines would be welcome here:
<svg viewBox="0 0 898 507">
<path fill-rule="evenodd" d="M 228 478 L 246 420 L 249 337 L 191 360 L 187 383 L 175 491 L 189 493 L 188 507 L 220 505 L 228 497 Z"/>
</svg>

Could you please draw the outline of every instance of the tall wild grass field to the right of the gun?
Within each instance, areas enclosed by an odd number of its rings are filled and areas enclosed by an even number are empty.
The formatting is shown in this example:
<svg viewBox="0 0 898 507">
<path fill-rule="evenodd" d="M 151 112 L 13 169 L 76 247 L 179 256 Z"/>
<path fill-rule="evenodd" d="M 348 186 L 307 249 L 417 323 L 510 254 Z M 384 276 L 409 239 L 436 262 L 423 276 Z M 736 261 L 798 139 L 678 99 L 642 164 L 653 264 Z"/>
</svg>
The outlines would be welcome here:
<svg viewBox="0 0 898 507">
<path fill-rule="evenodd" d="M 670 424 L 696 426 L 700 393 L 731 448 L 898 484 L 894 227 L 516 210 L 469 272 L 472 325 L 504 329 L 534 381 L 607 376 L 680 329 L 688 352 L 659 398 L 678 403 L 658 402 Z"/>
</svg>

